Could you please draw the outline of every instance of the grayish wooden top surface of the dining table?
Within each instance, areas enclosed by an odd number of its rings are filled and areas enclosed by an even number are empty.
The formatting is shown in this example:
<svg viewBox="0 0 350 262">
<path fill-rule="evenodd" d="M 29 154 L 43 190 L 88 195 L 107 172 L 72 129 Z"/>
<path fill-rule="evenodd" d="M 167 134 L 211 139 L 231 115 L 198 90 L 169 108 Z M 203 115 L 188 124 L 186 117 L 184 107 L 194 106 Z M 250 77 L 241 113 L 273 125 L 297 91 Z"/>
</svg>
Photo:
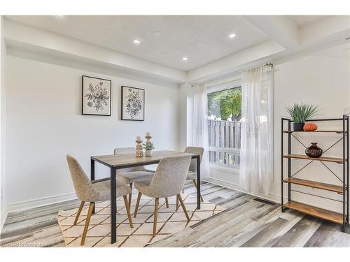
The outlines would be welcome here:
<svg viewBox="0 0 350 262">
<path fill-rule="evenodd" d="M 153 151 L 151 157 L 136 157 L 135 153 L 132 154 L 109 154 L 104 156 L 91 157 L 94 161 L 104 164 L 105 166 L 120 168 L 120 167 L 132 167 L 142 166 L 146 164 L 159 163 L 161 159 L 165 157 L 181 157 L 186 156 L 188 153 L 177 151 Z M 192 157 L 198 157 L 198 154 L 190 154 Z"/>
</svg>

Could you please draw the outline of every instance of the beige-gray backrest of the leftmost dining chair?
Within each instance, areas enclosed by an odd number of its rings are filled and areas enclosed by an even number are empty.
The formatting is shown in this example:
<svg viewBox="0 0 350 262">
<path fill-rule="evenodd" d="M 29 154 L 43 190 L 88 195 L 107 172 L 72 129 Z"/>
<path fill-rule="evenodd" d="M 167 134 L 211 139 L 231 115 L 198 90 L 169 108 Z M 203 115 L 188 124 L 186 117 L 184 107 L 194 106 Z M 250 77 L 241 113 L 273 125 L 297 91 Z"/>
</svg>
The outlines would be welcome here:
<svg viewBox="0 0 350 262">
<path fill-rule="evenodd" d="M 71 180 L 73 180 L 74 189 L 76 190 L 76 196 L 78 196 L 80 201 L 89 201 L 95 194 L 98 194 L 98 192 L 92 187 L 90 179 L 75 158 L 67 154 L 66 161 L 68 162 Z"/>
</svg>

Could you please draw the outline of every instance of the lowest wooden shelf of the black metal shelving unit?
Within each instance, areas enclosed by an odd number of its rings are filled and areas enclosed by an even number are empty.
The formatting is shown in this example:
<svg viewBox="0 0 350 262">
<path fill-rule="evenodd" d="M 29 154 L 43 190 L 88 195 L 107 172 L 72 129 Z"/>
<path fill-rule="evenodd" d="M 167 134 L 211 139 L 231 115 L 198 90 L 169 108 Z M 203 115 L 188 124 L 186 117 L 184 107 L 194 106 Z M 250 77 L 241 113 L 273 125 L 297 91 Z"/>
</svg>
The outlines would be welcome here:
<svg viewBox="0 0 350 262">
<path fill-rule="evenodd" d="M 324 210 L 321 208 L 316 208 L 311 205 L 306 205 L 294 201 L 287 202 L 283 205 L 285 208 L 290 208 L 292 210 L 297 210 L 299 212 L 302 212 L 304 214 L 309 214 L 314 217 L 318 217 L 320 219 L 324 219 L 327 221 L 332 221 L 337 224 L 343 224 L 343 216 L 342 214 L 338 214 L 335 212 L 331 212 L 328 210 Z"/>
</svg>

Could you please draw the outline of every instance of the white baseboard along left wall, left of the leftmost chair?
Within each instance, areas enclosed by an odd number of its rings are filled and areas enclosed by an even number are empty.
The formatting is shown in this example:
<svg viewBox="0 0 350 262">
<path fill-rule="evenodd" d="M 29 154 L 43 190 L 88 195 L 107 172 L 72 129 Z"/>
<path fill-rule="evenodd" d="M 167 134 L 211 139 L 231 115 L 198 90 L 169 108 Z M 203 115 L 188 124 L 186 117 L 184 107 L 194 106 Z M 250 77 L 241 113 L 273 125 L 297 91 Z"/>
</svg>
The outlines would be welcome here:
<svg viewBox="0 0 350 262">
<path fill-rule="evenodd" d="M 7 212 L 8 213 L 18 212 L 22 210 L 28 210 L 31 208 L 38 208 L 44 205 L 50 205 L 50 204 L 60 203 L 64 201 L 74 200 L 76 198 L 77 198 L 76 193 L 66 193 L 66 194 L 57 195 L 57 196 L 48 196 L 45 198 L 31 199 L 29 201 L 10 203 L 7 205 Z"/>
</svg>

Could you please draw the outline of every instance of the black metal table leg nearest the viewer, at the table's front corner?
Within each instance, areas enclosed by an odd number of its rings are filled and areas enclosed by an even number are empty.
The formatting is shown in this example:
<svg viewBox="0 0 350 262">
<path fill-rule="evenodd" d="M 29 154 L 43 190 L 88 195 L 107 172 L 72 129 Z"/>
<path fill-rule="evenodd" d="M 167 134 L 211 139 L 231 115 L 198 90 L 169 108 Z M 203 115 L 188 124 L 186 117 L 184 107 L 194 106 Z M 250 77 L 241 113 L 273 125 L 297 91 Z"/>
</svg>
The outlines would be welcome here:
<svg viewBox="0 0 350 262">
<path fill-rule="evenodd" d="M 117 242 L 117 178 L 116 168 L 111 168 L 111 244 Z"/>
</svg>

